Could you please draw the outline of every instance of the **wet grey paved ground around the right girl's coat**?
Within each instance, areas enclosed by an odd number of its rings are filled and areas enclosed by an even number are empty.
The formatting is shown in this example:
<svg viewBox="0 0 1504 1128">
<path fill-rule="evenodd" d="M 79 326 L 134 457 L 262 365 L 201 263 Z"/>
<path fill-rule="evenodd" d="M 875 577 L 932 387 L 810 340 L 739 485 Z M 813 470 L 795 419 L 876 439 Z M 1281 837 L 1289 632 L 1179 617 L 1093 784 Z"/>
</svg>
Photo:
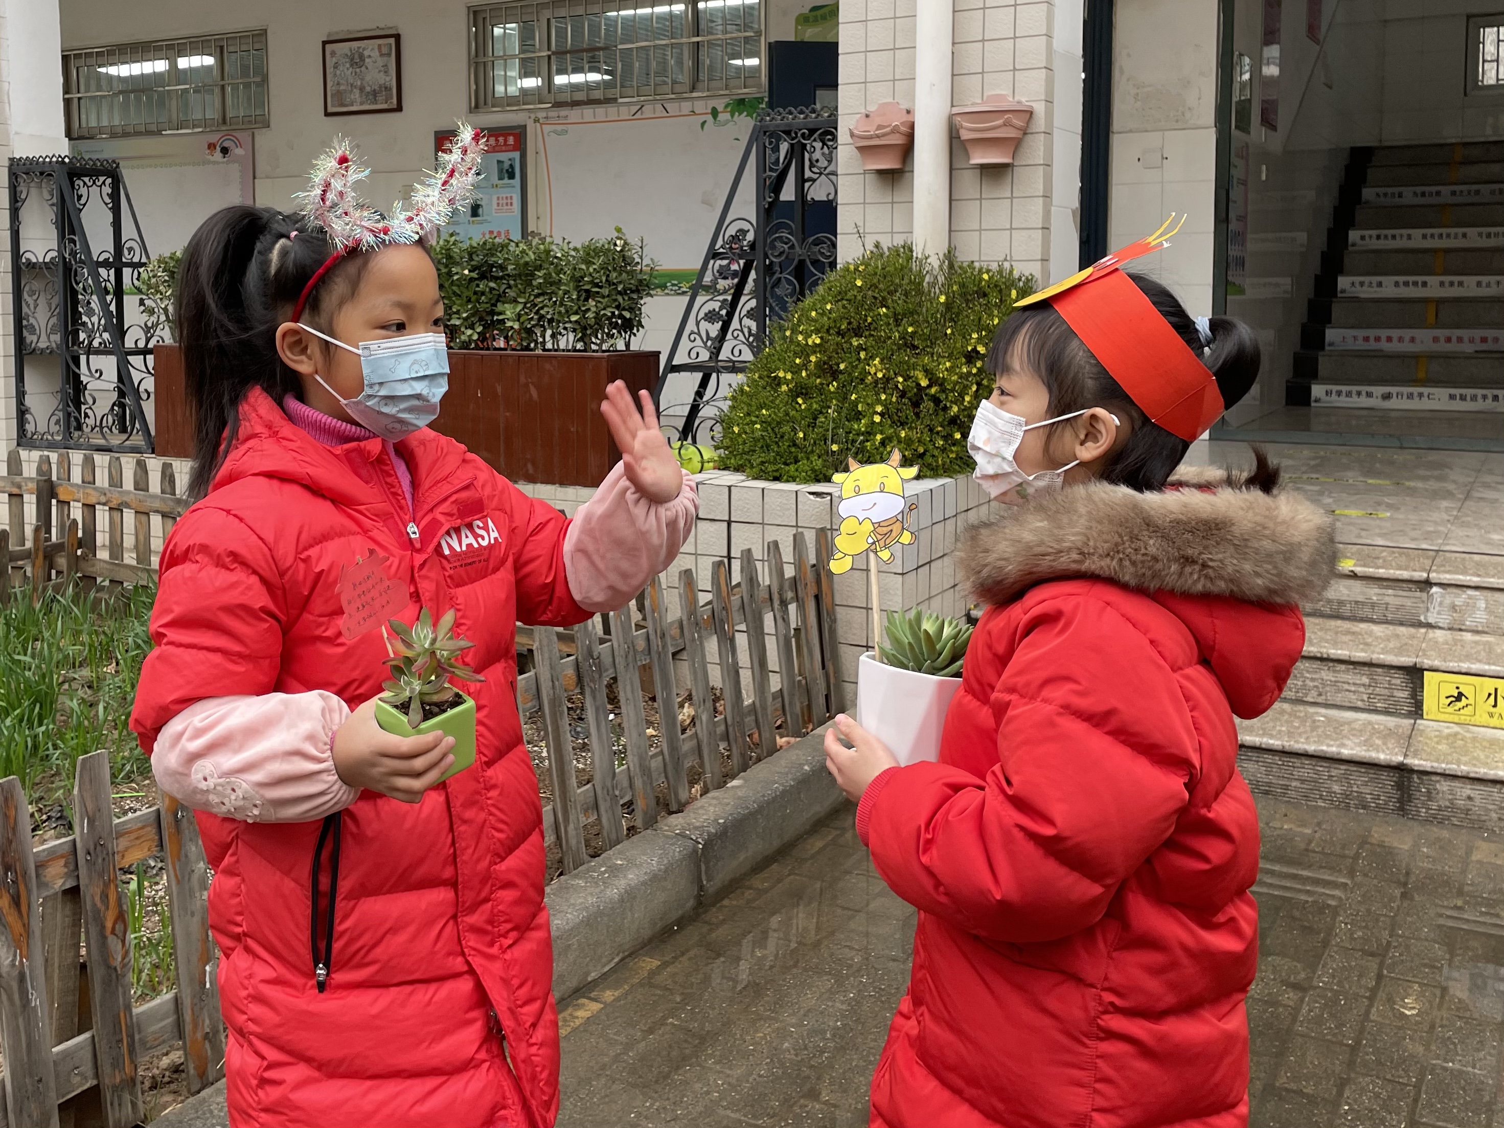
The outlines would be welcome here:
<svg viewBox="0 0 1504 1128">
<path fill-rule="evenodd" d="M 866 1123 L 914 916 L 850 821 L 564 1005 L 561 1128 Z M 1504 1128 L 1504 836 L 1260 821 L 1253 1128 Z"/>
</svg>

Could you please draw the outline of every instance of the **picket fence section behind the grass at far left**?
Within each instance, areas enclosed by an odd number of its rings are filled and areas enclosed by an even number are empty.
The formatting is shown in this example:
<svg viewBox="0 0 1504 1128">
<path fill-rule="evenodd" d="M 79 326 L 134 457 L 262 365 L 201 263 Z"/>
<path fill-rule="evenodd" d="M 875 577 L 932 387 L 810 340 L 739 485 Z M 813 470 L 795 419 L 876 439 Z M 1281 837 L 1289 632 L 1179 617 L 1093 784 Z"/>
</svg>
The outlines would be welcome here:
<svg viewBox="0 0 1504 1128">
<path fill-rule="evenodd" d="M 72 460 L 78 460 L 78 481 L 72 480 Z M 150 492 L 146 459 L 135 459 L 132 487 L 125 489 L 125 463 L 119 456 L 105 459 L 105 483 L 98 481 L 93 454 L 57 453 L 57 474 L 51 457 L 36 460 L 36 472 L 24 475 L 21 451 L 6 456 L 6 475 L 0 492 L 8 495 L 9 522 L 0 528 L 0 552 L 9 566 L 9 579 L 0 584 L 0 600 L 15 588 L 29 587 L 41 599 L 51 585 L 74 579 L 84 584 L 155 582 L 153 544 L 161 546 L 173 525 L 188 508 L 188 498 L 177 495 L 171 463 L 161 463 L 158 492 Z M 33 520 L 27 528 L 27 496 L 33 496 Z M 102 510 L 102 513 L 101 513 Z M 75 516 L 77 513 L 77 516 Z M 153 537 L 152 525 L 158 526 Z M 131 522 L 134 561 L 125 558 L 126 519 Z M 105 541 L 99 553 L 101 535 Z"/>
</svg>

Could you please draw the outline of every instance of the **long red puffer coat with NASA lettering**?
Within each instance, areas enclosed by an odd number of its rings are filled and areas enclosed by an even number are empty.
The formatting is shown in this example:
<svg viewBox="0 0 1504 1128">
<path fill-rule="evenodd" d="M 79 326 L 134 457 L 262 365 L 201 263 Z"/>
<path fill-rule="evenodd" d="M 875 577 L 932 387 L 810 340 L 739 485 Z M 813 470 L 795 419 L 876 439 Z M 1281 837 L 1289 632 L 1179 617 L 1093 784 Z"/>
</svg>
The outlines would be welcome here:
<svg viewBox="0 0 1504 1128">
<path fill-rule="evenodd" d="M 514 623 L 588 618 L 564 578 L 567 522 L 453 439 L 420 430 L 397 448 L 417 537 L 379 439 L 322 447 L 253 391 L 214 489 L 162 550 L 156 648 L 131 719 L 147 752 L 202 698 L 323 689 L 353 708 L 381 692 L 378 623 L 411 623 L 420 605 L 457 611 L 486 677 L 466 686 L 472 769 L 421 803 L 365 791 L 343 812 L 323 994 L 308 937 L 320 824 L 199 814 L 236 1128 L 537 1128 L 558 1110 L 541 811 L 517 717 Z M 460 526 L 469 535 L 445 552 L 444 534 Z M 362 597 L 341 599 L 341 570 L 371 552 L 393 587 L 367 576 Z"/>
</svg>

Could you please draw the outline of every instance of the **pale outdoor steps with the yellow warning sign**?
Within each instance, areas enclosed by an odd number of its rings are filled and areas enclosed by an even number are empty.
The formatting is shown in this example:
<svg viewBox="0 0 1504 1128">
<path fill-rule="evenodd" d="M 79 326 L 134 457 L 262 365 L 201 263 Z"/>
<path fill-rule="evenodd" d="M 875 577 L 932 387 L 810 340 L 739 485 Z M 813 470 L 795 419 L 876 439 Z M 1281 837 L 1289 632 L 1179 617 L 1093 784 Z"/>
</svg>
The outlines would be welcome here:
<svg viewBox="0 0 1504 1128">
<path fill-rule="evenodd" d="M 1504 556 L 1339 546 L 1305 614 L 1284 696 L 1238 726 L 1253 790 L 1504 827 L 1504 728 L 1424 719 L 1427 672 L 1432 713 L 1504 717 Z"/>
</svg>

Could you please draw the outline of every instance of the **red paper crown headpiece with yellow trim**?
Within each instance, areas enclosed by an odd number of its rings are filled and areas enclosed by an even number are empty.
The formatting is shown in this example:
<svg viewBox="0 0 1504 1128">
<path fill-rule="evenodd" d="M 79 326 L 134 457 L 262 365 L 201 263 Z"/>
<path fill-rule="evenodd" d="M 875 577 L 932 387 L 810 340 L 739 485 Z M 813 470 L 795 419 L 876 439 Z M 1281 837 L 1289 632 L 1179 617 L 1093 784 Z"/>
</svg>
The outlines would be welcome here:
<svg viewBox="0 0 1504 1128">
<path fill-rule="evenodd" d="M 1015 308 L 1050 302 L 1151 423 L 1194 442 L 1226 411 L 1217 378 L 1191 352 L 1122 265 L 1169 247 L 1166 229 L 1128 244 L 1080 274 L 1024 298 Z M 1185 217 L 1181 217 L 1185 223 Z"/>
</svg>

